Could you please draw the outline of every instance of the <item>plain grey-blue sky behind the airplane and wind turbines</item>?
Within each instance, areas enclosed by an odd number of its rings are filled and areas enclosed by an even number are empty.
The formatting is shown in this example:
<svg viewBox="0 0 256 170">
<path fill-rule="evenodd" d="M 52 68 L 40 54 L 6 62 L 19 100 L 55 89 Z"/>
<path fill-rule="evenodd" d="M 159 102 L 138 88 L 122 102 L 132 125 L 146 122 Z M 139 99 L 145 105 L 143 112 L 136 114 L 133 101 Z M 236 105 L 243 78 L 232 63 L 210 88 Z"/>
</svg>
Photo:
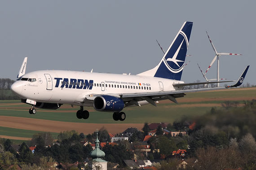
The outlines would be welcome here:
<svg viewBox="0 0 256 170">
<path fill-rule="evenodd" d="M 181 80 L 204 81 L 215 52 L 220 78 L 256 84 L 256 1 L 241 0 L 5 0 L 0 5 L 0 78 L 26 72 L 76 70 L 139 74 L 163 57 L 183 22 L 194 22 Z M 216 78 L 216 62 L 206 74 Z M 232 84 L 232 83 L 231 83 Z M 221 84 L 221 85 L 224 85 Z"/>
</svg>

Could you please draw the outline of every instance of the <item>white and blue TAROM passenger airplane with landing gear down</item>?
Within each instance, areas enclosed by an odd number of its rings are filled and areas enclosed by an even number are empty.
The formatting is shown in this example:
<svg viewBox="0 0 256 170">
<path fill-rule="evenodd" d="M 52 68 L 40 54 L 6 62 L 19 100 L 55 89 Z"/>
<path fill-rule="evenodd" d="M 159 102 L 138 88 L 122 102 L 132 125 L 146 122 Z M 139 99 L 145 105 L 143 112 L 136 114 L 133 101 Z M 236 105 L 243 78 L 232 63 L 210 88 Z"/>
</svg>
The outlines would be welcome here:
<svg viewBox="0 0 256 170">
<path fill-rule="evenodd" d="M 90 106 L 100 112 L 112 112 L 115 121 L 124 121 L 126 114 L 122 110 L 125 107 L 146 104 L 156 106 L 159 100 L 178 103 L 176 98 L 184 97 L 185 93 L 227 88 L 183 90 L 184 86 L 209 83 L 181 81 L 192 26 L 193 22 L 184 22 L 159 64 L 143 73 L 127 75 L 95 73 L 93 70 L 40 70 L 25 74 L 25 57 L 11 91 L 21 98 L 22 103 L 31 105 L 30 114 L 36 113 L 35 108 L 58 109 L 63 104 L 69 104 L 72 107 L 80 106 L 76 112 L 79 119 L 88 119 L 89 112 L 84 110 L 84 106 Z M 248 67 L 230 87 L 237 87 L 243 83 Z"/>
</svg>

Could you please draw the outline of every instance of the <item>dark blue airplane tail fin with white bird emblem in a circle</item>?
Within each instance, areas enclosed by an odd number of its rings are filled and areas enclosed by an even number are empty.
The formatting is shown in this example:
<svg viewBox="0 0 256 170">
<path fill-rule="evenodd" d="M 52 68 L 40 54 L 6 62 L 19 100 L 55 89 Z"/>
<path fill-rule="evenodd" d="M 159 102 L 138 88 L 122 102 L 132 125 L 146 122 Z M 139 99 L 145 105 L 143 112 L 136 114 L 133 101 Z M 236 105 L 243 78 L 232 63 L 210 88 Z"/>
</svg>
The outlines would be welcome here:
<svg viewBox="0 0 256 170">
<path fill-rule="evenodd" d="M 193 22 L 184 22 L 159 64 L 137 75 L 181 80 L 192 26 Z"/>
</svg>

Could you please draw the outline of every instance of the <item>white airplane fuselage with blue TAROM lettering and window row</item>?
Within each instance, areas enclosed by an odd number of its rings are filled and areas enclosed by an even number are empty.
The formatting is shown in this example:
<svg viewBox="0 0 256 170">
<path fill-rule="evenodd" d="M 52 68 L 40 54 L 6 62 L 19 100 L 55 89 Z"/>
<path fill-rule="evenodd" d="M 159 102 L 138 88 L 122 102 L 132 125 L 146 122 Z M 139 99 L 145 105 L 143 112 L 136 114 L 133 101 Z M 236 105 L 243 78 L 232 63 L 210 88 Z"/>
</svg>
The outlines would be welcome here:
<svg viewBox="0 0 256 170">
<path fill-rule="evenodd" d="M 173 83 L 182 81 L 150 76 L 91 73 L 64 70 L 42 70 L 24 74 L 12 88 L 22 99 L 36 102 L 93 106 L 89 95 L 181 90 Z M 147 103 L 147 102 L 146 102 Z"/>
</svg>

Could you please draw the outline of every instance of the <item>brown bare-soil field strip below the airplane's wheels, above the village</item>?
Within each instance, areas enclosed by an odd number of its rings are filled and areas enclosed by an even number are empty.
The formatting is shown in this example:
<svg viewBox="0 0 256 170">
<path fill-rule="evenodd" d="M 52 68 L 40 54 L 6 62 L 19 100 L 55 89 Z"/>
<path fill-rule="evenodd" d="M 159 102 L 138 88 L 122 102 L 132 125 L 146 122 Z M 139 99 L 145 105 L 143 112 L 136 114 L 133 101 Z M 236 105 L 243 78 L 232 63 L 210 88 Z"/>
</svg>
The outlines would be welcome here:
<svg viewBox="0 0 256 170">
<path fill-rule="evenodd" d="M 84 134 L 93 133 L 96 129 L 104 126 L 109 133 L 116 134 L 125 131 L 128 127 L 137 127 L 141 130 L 143 123 L 74 123 L 57 122 L 33 118 L 18 118 L 10 116 L 0 116 L 0 126 L 16 129 L 26 129 L 33 131 L 56 132 L 75 130 Z"/>
</svg>

